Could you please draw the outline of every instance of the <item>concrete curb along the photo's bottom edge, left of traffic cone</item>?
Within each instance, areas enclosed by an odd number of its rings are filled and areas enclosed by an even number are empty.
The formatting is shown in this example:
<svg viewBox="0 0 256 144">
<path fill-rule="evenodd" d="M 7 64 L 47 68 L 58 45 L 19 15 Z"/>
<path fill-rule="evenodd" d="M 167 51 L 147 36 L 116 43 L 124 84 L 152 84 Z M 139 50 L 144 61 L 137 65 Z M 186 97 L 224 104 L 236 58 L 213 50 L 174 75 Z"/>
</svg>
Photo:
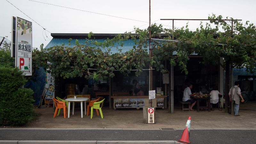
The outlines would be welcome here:
<svg viewBox="0 0 256 144">
<path fill-rule="evenodd" d="M 0 140 L 0 144 L 180 144 L 175 140 L 131 140 L 131 141 L 101 141 L 101 140 Z"/>
</svg>

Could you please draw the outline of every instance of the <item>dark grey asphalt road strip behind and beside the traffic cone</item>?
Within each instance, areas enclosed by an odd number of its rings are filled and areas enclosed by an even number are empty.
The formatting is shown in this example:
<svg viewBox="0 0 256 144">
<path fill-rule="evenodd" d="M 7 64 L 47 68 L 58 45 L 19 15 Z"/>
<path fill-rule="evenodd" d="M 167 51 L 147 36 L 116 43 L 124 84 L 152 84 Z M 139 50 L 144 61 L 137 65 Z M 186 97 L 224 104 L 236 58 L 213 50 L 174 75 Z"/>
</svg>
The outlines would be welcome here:
<svg viewBox="0 0 256 144">
<path fill-rule="evenodd" d="M 179 140 L 183 130 L 1 129 L 0 140 Z M 195 144 L 254 144 L 256 130 L 190 130 Z"/>
</svg>

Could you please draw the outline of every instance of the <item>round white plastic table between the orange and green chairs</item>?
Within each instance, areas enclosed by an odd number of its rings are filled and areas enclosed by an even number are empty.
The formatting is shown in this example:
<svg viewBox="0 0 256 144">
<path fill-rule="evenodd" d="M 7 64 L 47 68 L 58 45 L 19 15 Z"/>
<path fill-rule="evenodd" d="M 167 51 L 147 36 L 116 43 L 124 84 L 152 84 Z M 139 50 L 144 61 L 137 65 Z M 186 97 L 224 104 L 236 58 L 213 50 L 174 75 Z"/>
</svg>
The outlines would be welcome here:
<svg viewBox="0 0 256 144">
<path fill-rule="evenodd" d="M 86 97 L 77 97 L 76 99 L 74 97 L 67 98 L 66 101 L 68 101 L 68 118 L 70 115 L 70 102 L 73 102 L 72 115 L 74 115 L 75 102 L 81 103 L 81 117 L 83 118 L 83 102 L 84 102 L 84 114 L 86 115 L 86 101 L 87 100 L 89 100 L 89 98 L 86 98 Z"/>
</svg>

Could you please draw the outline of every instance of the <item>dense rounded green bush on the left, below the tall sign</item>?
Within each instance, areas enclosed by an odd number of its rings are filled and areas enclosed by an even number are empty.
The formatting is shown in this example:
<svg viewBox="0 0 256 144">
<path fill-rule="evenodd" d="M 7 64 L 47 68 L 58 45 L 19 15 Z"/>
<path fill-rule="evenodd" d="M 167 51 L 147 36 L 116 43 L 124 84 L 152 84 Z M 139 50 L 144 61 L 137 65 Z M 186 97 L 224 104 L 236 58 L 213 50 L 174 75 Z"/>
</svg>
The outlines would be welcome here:
<svg viewBox="0 0 256 144">
<path fill-rule="evenodd" d="M 0 65 L 0 125 L 25 125 L 33 118 L 33 91 L 18 68 Z"/>
</svg>

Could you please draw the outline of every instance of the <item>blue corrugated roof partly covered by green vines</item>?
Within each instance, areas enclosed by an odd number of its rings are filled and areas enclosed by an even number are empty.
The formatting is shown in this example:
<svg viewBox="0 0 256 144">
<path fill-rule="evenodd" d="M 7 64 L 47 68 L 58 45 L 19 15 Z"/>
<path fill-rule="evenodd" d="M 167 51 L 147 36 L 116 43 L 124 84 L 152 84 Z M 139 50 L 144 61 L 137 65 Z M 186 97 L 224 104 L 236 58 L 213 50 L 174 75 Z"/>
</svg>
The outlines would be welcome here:
<svg viewBox="0 0 256 144">
<path fill-rule="evenodd" d="M 80 44 L 85 44 L 85 41 L 88 41 L 88 39 L 81 39 L 81 38 L 78 38 L 78 39 L 72 39 L 70 41 L 70 44 L 71 45 L 68 45 L 68 38 L 53 38 L 48 44 L 47 46 L 45 47 L 45 49 L 48 49 L 50 47 L 53 47 L 53 46 L 61 46 L 62 44 L 64 44 L 64 46 L 68 46 L 68 47 L 74 47 L 76 46 L 76 40 L 78 40 L 78 42 Z M 104 42 L 105 39 L 93 39 L 93 41 L 98 41 L 98 42 Z M 119 44 L 115 44 L 115 46 L 118 48 L 118 49 L 122 49 L 122 52 L 126 52 L 126 51 L 129 51 L 130 49 L 133 48 L 134 46 L 134 42 L 131 40 L 131 39 L 128 39 L 126 41 L 124 41 L 124 45 L 123 47 L 121 47 Z M 112 53 L 117 53 L 118 52 L 118 49 L 116 47 L 113 47 L 111 48 L 111 52 Z"/>
</svg>

